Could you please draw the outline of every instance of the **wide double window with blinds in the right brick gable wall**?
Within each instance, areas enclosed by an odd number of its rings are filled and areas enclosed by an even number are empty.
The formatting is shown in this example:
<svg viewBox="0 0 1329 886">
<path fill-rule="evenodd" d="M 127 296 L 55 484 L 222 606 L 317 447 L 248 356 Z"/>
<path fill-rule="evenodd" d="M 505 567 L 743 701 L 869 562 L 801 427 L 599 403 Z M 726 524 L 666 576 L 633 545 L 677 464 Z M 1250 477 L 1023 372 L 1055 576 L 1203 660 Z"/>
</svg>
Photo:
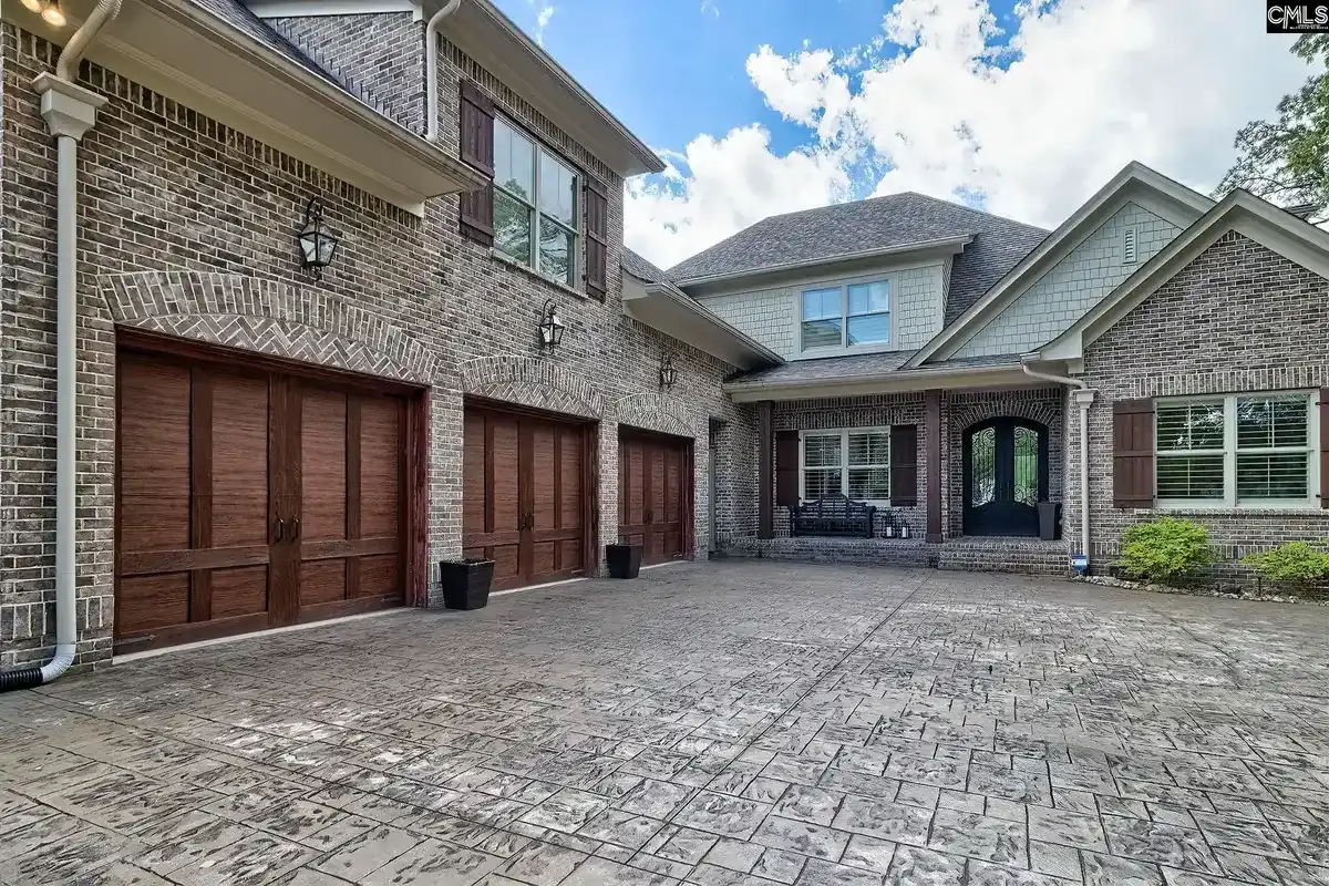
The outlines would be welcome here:
<svg viewBox="0 0 1329 886">
<path fill-rule="evenodd" d="M 1314 506 L 1312 393 L 1159 400 L 1155 493 L 1163 506 Z"/>
</svg>

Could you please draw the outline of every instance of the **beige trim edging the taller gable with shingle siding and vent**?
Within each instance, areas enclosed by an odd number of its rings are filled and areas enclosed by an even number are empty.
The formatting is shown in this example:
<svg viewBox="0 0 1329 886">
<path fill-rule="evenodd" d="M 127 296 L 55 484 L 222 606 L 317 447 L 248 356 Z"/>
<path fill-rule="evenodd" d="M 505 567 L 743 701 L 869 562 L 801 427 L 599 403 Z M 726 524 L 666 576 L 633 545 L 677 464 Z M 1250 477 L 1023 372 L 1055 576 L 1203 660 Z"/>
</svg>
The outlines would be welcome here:
<svg viewBox="0 0 1329 886">
<path fill-rule="evenodd" d="M 912 356 L 905 367 L 922 365 L 928 360 L 954 356 L 965 343 L 1006 310 L 1029 287 L 1057 266 L 1076 246 L 1083 243 L 1103 222 L 1128 202 L 1139 202 L 1151 213 L 1168 221 L 1191 224 L 1213 206 L 1208 197 L 1172 181 L 1171 178 L 1131 162 L 1090 197 L 1075 213 L 1049 234 L 1034 251 L 1019 260 L 1006 276 L 995 283 L 981 299 L 969 307 L 949 327 L 937 333 Z M 1083 230 L 1083 235 L 1073 235 Z M 1037 272 L 1037 276 L 1035 276 Z"/>
</svg>

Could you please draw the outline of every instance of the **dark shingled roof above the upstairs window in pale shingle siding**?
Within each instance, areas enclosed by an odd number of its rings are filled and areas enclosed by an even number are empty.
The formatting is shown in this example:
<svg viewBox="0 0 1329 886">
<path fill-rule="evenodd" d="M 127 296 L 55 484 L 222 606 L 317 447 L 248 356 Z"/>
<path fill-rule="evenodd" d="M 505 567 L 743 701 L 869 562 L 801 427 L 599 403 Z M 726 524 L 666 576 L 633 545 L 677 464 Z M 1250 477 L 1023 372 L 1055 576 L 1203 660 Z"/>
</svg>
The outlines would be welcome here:
<svg viewBox="0 0 1329 886">
<path fill-rule="evenodd" d="M 1045 235 L 1046 231 L 1029 224 L 906 191 L 764 218 L 675 264 L 670 274 L 687 286 L 702 279 L 736 278 L 872 251 L 925 248 L 971 236 L 969 248 L 977 246 L 975 258 L 964 267 L 957 259 L 956 270 L 961 274 L 952 275 L 952 288 L 958 284 L 961 298 L 968 299 L 977 298 L 971 295 L 974 290 L 991 278 L 989 264 L 1005 264 L 997 276 L 1005 274 L 1023 255 L 1021 250 L 1033 248 Z"/>
</svg>

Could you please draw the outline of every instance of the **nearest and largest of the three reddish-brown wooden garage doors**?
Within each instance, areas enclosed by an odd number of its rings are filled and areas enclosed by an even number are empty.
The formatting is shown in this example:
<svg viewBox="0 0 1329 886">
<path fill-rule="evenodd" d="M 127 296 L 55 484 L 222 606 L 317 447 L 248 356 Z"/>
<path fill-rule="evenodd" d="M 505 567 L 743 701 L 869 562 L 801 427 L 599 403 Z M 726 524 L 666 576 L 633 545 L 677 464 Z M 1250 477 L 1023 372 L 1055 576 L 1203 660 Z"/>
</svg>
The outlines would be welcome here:
<svg viewBox="0 0 1329 886">
<path fill-rule="evenodd" d="M 407 402 L 118 357 L 117 648 L 400 604 Z"/>
</svg>

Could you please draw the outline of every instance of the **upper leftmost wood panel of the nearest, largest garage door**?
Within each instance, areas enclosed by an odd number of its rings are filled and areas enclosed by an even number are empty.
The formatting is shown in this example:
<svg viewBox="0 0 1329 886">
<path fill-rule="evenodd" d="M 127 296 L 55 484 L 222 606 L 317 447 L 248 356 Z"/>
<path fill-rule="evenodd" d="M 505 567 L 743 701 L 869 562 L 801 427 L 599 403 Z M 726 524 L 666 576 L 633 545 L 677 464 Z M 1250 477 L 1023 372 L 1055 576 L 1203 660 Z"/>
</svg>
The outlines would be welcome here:
<svg viewBox="0 0 1329 886">
<path fill-rule="evenodd" d="M 125 355 L 120 363 L 120 546 L 190 546 L 190 369 Z"/>
</svg>

